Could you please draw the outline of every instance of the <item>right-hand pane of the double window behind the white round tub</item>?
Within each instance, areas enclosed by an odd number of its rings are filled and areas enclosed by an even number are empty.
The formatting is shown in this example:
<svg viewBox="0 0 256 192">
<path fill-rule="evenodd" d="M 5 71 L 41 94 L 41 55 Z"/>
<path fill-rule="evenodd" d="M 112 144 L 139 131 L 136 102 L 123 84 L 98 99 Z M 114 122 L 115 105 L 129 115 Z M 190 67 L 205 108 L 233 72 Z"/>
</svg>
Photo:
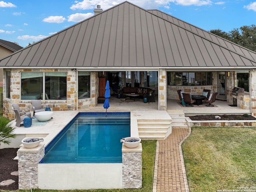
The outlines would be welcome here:
<svg viewBox="0 0 256 192">
<path fill-rule="evenodd" d="M 67 99 L 67 74 L 45 73 L 45 99 Z"/>
</svg>

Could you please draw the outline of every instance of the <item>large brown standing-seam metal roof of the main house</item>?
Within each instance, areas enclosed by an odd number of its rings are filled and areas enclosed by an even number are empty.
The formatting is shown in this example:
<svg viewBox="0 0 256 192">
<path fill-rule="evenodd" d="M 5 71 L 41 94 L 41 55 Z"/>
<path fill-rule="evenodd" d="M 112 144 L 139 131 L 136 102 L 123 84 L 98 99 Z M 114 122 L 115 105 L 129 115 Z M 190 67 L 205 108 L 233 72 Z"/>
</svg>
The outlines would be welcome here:
<svg viewBox="0 0 256 192">
<path fill-rule="evenodd" d="M 12 68 L 252 68 L 256 53 L 123 2 L 2 60 Z"/>
</svg>

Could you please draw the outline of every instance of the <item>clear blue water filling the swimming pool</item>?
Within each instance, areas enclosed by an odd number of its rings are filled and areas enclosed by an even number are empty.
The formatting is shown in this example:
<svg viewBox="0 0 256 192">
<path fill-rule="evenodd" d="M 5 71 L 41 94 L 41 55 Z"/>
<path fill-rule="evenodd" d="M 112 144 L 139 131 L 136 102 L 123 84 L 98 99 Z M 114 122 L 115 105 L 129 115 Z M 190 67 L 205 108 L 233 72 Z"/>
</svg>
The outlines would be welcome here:
<svg viewBox="0 0 256 192">
<path fill-rule="evenodd" d="M 79 113 L 45 148 L 40 163 L 122 163 L 130 112 Z"/>
</svg>

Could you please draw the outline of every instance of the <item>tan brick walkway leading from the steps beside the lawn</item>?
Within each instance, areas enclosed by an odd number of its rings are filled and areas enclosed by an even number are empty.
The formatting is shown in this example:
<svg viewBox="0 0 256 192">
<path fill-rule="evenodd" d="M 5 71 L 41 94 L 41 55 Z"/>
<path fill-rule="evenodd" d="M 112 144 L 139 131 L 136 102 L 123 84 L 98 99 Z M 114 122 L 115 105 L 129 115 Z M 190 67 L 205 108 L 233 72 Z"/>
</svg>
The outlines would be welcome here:
<svg viewBox="0 0 256 192">
<path fill-rule="evenodd" d="M 189 192 L 179 147 L 189 132 L 188 128 L 172 128 L 172 134 L 166 140 L 159 141 L 156 192 Z"/>
</svg>

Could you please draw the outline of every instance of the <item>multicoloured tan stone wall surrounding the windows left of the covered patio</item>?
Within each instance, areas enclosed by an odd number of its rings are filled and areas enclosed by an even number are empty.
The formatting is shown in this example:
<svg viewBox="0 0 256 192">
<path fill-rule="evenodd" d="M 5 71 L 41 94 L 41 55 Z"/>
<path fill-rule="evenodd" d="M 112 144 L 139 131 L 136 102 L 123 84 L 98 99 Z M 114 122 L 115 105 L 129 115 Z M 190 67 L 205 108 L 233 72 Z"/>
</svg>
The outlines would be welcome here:
<svg viewBox="0 0 256 192">
<path fill-rule="evenodd" d="M 77 102 L 77 74 L 74 70 L 70 69 L 4 69 L 10 71 L 10 98 L 6 98 L 6 78 L 4 73 L 4 102 L 3 102 L 3 116 L 13 120 L 14 111 L 12 104 L 19 104 L 21 109 L 28 109 L 32 111 L 31 100 L 20 100 L 20 85 L 21 85 L 21 72 L 67 72 L 67 99 L 66 100 L 42 100 L 42 105 L 50 107 L 52 111 L 67 111 L 83 109 L 96 106 L 98 97 L 98 72 L 91 72 L 90 86 L 91 97 L 79 99 Z"/>
</svg>

